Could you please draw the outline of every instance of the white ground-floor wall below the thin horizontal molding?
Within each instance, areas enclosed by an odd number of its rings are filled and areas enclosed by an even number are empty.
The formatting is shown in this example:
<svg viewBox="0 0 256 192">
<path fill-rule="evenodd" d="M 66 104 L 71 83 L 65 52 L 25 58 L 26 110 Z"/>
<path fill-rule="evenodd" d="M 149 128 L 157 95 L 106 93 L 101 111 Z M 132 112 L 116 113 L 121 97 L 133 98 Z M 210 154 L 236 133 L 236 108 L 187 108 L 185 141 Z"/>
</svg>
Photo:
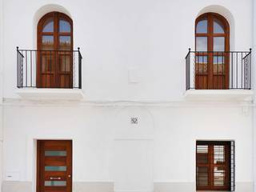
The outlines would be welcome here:
<svg viewBox="0 0 256 192">
<path fill-rule="evenodd" d="M 252 191 L 252 117 L 250 112 L 243 112 L 241 106 L 129 106 L 124 112 L 120 109 L 122 106 L 5 106 L 5 127 L 8 127 L 4 146 L 6 176 L 14 174 L 14 180 L 33 185 L 34 140 L 73 139 L 74 183 L 114 182 L 121 188 L 119 191 L 150 190 L 137 188 L 140 185 L 133 179 L 140 179 L 142 186 L 167 183 L 178 187 L 177 191 L 182 191 L 180 189 L 186 185 L 189 186 L 187 191 L 194 191 L 196 140 L 234 140 L 236 185 L 241 189 L 236 191 L 245 191 L 244 187 Z M 129 124 L 133 115 L 139 119 L 135 127 Z M 37 123 L 42 117 L 45 120 Z M 130 161 L 125 162 L 126 166 L 122 165 L 124 161 L 119 162 L 121 165 L 116 161 L 126 154 L 122 154 L 122 150 L 130 148 L 124 146 L 120 152 L 117 147 L 122 142 L 130 142 L 132 147 L 134 142 L 143 141 L 154 154 L 152 164 L 145 168 L 146 174 L 140 178 L 138 174 L 131 175 L 131 170 L 136 171 L 138 167 L 129 166 Z M 142 148 L 140 153 L 144 152 Z M 131 173 L 120 181 L 125 174 L 122 169 Z M 154 171 L 151 181 L 149 178 L 144 181 L 143 176 L 148 175 L 150 169 Z M 134 186 L 127 186 L 128 181 Z"/>
</svg>

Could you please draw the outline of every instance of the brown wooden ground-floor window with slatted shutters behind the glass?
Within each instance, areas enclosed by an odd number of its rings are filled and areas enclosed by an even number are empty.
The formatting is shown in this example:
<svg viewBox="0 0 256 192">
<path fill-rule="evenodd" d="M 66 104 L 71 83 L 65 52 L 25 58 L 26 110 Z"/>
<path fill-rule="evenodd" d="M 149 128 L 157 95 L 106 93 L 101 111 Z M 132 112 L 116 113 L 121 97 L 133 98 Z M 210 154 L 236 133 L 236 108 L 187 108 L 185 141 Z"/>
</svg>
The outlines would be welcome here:
<svg viewBox="0 0 256 192">
<path fill-rule="evenodd" d="M 197 190 L 230 190 L 230 142 L 197 142 Z"/>
</svg>

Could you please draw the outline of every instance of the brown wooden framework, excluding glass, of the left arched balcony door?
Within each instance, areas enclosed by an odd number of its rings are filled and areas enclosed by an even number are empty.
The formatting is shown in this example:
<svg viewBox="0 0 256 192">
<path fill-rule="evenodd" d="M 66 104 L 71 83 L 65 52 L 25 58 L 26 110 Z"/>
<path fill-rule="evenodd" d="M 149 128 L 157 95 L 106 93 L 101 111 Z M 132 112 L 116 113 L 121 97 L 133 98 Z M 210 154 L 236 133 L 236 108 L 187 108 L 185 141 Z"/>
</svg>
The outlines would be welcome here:
<svg viewBox="0 0 256 192">
<path fill-rule="evenodd" d="M 54 19 L 54 32 L 43 32 L 42 27 L 45 22 Z M 59 32 L 60 19 L 70 23 L 70 33 Z M 53 50 L 42 49 L 42 36 L 54 37 Z M 70 36 L 70 50 L 60 51 L 60 36 Z M 61 66 L 65 57 L 65 67 L 69 62 L 69 71 L 62 71 Z M 46 63 L 45 71 L 42 64 Z M 51 66 L 51 67 L 50 67 Z M 73 87 L 73 22 L 66 14 L 51 12 L 44 15 L 38 22 L 38 54 L 37 54 L 37 87 L 38 88 L 72 88 Z"/>
</svg>

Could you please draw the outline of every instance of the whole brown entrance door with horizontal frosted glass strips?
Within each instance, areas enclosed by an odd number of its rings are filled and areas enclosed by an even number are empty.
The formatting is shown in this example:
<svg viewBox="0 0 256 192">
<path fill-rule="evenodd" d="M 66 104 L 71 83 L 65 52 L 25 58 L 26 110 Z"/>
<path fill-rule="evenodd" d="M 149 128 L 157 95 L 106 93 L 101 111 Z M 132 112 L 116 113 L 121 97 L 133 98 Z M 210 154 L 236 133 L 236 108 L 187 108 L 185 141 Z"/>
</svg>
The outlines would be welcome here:
<svg viewBox="0 0 256 192">
<path fill-rule="evenodd" d="M 72 141 L 38 140 L 37 192 L 72 191 Z"/>
</svg>

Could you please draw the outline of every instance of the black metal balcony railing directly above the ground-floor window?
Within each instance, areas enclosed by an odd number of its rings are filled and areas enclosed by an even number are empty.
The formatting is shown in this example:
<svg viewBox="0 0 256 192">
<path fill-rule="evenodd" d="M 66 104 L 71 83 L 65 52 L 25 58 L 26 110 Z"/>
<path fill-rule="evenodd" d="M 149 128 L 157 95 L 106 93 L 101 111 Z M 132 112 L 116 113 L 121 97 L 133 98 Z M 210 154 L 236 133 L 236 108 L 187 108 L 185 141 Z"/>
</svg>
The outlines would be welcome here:
<svg viewBox="0 0 256 192">
<path fill-rule="evenodd" d="M 249 51 L 191 51 L 186 54 L 186 90 L 251 89 Z"/>
</svg>

